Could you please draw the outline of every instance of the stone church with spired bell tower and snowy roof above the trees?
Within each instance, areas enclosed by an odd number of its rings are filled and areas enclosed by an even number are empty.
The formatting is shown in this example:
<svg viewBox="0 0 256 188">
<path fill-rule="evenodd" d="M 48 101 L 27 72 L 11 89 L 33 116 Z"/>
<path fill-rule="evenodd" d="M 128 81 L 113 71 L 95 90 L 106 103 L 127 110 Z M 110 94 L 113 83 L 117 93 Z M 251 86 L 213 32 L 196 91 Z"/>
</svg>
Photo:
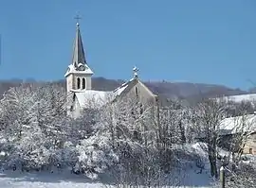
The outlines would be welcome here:
<svg viewBox="0 0 256 188">
<path fill-rule="evenodd" d="M 133 96 L 138 99 L 141 108 L 156 107 L 158 104 L 157 95 L 140 81 L 137 67 L 133 69 L 133 72 L 133 77 L 114 91 L 93 90 L 92 76 L 94 72 L 85 58 L 80 24 L 77 23 L 72 61 L 64 75 L 68 98 L 67 114 L 73 118 L 78 118 L 84 109 L 100 109 L 104 105 Z"/>
</svg>

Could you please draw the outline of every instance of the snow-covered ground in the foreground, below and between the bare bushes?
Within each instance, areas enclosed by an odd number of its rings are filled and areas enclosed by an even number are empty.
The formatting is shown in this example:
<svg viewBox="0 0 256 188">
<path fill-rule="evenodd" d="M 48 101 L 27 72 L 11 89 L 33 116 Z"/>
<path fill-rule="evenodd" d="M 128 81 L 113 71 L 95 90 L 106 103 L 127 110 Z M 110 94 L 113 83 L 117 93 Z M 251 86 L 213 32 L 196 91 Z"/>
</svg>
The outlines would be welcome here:
<svg viewBox="0 0 256 188">
<path fill-rule="evenodd" d="M 199 143 L 194 145 L 187 145 L 187 151 L 199 154 L 202 159 L 206 159 L 206 153 Z M 212 179 L 210 178 L 210 170 L 208 162 L 205 161 L 206 166 L 199 173 L 200 169 L 196 167 L 195 162 L 184 161 L 185 168 L 176 170 L 172 173 L 169 179 L 174 179 L 172 182 L 179 183 L 180 187 L 201 187 L 210 188 Z M 92 181 L 84 176 L 71 174 L 70 172 L 49 172 L 40 173 L 23 173 L 20 171 L 3 171 L 0 173 L 0 188 L 101 188 L 101 187 L 115 187 L 109 186 L 105 179 L 106 176 L 101 177 L 100 181 Z"/>
</svg>

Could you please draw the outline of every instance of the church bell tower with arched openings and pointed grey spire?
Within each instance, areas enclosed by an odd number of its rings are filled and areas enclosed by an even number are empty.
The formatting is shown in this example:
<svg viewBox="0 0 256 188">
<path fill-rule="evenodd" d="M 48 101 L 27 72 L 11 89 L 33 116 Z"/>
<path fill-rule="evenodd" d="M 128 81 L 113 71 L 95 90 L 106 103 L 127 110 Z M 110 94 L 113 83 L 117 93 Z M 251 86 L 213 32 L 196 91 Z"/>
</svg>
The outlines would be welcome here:
<svg viewBox="0 0 256 188">
<path fill-rule="evenodd" d="M 77 20 L 81 19 L 76 17 Z M 77 22 L 76 38 L 73 45 L 72 62 L 68 66 L 64 75 L 66 79 L 66 91 L 69 94 L 71 91 L 91 90 L 92 83 L 91 77 L 93 76 L 92 70 L 89 68 L 84 55 L 82 45 L 82 37 L 80 31 L 80 24 Z"/>
</svg>

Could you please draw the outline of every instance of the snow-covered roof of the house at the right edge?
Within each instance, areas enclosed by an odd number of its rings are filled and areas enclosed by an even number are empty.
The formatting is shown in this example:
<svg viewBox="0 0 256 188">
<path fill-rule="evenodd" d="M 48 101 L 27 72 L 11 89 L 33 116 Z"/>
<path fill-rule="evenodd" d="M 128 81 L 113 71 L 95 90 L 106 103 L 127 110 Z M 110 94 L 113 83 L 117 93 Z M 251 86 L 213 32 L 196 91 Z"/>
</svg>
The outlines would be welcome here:
<svg viewBox="0 0 256 188">
<path fill-rule="evenodd" d="M 221 134 L 234 134 L 237 132 L 253 132 L 256 130 L 256 115 L 229 117 L 222 120 L 220 124 Z"/>
</svg>

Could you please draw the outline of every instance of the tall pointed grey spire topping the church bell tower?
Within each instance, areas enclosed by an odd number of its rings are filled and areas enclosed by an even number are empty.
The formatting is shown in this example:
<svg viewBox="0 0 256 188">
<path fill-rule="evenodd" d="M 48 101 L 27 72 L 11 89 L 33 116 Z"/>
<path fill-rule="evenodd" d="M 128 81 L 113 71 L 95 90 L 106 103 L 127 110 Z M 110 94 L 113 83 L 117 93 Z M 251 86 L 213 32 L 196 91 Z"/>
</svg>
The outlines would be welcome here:
<svg viewBox="0 0 256 188">
<path fill-rule="evenodd" d="M 80 17 L 75 17 L 75 19 L 81 19 Z M 79 64 L 86 64 L 83 45 L 82 45 L 82 37 L 80 32 L 80 24 L 77 21 L 77 31 L 76 31 L 76 38 L 74 42 L 73 47 L 73 58 L 72 58 L 72 64 L 75 68 L 79 67 Z"/>
</svg>

